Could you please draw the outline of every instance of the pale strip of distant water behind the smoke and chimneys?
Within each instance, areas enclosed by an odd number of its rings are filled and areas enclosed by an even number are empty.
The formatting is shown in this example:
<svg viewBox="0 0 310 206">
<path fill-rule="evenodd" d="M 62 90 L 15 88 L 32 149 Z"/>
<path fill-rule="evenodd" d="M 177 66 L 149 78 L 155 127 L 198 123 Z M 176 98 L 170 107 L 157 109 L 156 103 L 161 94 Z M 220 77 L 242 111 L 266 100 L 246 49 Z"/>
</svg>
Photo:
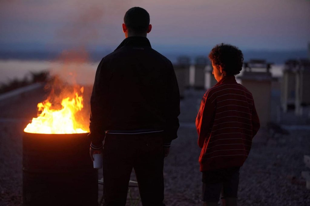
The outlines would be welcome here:
<svg viewBox="0 0 310 206">
<path fill-rule="evenodd" d="M 92 85 L 99 62 L 74 63 L 45 60 L 0 60 L 0 84 L 13 79 L 30 78 L 30 72 L 51 71 L 66 80 L 77 81 L 79 84 Z M 271 73 L 273 77 L 283 75 L 284 65 L 273 65 Z M 193 82 L 193 67 L 190 72 L 190 82 Z"/>
</svg>

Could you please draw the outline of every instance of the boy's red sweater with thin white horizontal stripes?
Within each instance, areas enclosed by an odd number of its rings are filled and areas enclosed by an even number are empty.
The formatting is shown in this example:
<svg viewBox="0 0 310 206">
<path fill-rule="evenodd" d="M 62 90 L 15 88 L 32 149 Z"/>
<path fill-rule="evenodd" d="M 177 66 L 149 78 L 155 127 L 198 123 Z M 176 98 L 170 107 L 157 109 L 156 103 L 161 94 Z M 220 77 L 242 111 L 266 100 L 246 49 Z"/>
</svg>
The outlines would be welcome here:
<svg viewBox="0 0 310 206">
<path fill-rule="evenodd" d="M 196 118 L 200 171 L 242 166 L 260 127 L 251 92 L 225 77 L 208 89 Z"/>
</svg>

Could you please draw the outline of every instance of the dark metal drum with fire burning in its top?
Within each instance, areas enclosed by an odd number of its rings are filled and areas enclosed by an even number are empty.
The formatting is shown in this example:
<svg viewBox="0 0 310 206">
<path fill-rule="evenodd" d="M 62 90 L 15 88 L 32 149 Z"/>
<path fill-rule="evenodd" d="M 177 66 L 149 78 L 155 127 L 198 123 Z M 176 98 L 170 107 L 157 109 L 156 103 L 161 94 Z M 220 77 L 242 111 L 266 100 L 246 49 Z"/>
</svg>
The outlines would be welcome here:
<svg viewBox="0 0 310 206">
<path fill-rule="evenodd" d="M 23 135 L 23 204 L 98 205 L 88 133 Z"/>
</svg>

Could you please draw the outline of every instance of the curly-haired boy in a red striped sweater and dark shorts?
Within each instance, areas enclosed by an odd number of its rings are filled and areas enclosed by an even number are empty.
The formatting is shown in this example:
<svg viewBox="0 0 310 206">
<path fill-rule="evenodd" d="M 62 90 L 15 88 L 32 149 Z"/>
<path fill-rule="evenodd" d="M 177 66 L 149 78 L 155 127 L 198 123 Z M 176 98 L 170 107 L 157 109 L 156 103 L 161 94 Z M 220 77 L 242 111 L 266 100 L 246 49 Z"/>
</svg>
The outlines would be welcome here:
<svg viewBox="0 0 310 206">
<path fill-rule="evenodd" d="M 223 189 L 224 205 L 237 205 L 239 169 L 249 155 L 259 118 L 251 92 L 236 82 L 243 54 L 229 44 L 209 54 L 218 82 L 202 98 L 196 118 L 203 205 L 217 205 Z"/>
</svg>

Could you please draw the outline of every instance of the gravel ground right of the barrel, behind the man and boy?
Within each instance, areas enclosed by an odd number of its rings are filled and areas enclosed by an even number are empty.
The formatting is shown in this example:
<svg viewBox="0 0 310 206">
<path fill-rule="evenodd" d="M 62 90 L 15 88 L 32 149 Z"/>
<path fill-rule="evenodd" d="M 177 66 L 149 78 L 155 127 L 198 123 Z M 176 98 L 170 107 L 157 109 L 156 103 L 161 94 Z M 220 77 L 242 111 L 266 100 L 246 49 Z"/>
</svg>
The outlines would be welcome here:
<svg viewBox="0 0 310 206">
<path fill-rule="evenodd" d="M 202 205 L 200 148 L 194 121 L 203 93 L 187 91 L 187 98 L 181 102 L 178 138 L 165 159 L 166 205 Z M 310 205 L 310 190 L 301 177 L 301 171 L 310 170 L 303 162 L 303 155 L 310 154 L 310 125 L 289 132 L 290 135 L 276 135 L 267 143 L 266 129 L 255 136 L 250 155 L 240 170 L 238 205 Z M 134 173 L 132 179 L 135 180 Z M 133 196 L 139 196 L 138 192 Z"/>
</svg>

